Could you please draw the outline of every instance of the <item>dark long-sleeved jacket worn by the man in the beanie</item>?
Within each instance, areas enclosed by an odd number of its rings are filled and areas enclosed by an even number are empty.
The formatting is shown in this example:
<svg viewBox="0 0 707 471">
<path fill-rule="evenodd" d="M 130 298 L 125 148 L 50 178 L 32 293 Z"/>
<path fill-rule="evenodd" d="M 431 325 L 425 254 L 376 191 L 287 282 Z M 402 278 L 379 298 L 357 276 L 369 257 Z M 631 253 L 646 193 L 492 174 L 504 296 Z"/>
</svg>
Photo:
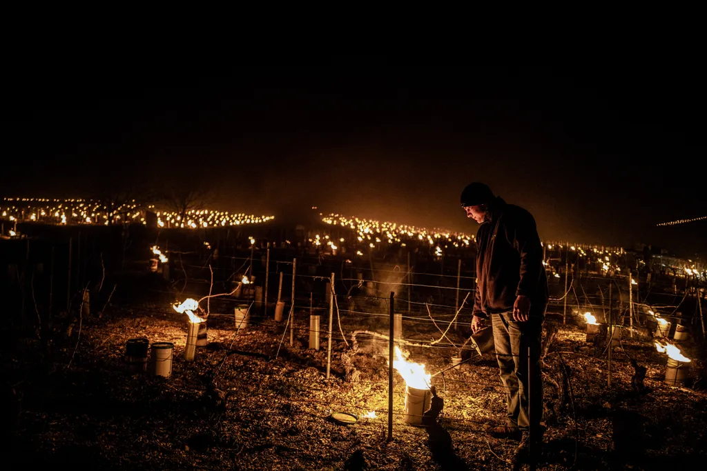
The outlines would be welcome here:
<svg viewBox="0 0 707 471">
<path fill-rule="evenodd" d="M 542 260 L 532 215 L 496 198 L 477 232 L 474 316 L 513 311 L 521 294 L 530 298 L 531 316 L 544 316 L 549 294 Z"/>
</svg>

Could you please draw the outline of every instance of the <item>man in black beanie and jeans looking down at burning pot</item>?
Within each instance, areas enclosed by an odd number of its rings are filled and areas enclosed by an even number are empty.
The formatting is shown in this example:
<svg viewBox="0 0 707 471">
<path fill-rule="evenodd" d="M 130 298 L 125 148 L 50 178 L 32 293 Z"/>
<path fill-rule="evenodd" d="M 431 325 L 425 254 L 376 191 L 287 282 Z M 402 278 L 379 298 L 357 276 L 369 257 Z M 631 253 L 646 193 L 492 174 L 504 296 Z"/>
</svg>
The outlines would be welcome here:
<svg viewBox="0 0 707 471">
<path fill-rule="evenodd" d="M 491 318 L 508 404 L 506 424 L 488 431 L 520 441 L 516 460 L 537 460 L 544 431 L 540 338 L 549 295 L 535 220 L 478 182 L 464 188 L 461 202 L 467 217 L 481 225 L 472 332 Z"/>
</svg>

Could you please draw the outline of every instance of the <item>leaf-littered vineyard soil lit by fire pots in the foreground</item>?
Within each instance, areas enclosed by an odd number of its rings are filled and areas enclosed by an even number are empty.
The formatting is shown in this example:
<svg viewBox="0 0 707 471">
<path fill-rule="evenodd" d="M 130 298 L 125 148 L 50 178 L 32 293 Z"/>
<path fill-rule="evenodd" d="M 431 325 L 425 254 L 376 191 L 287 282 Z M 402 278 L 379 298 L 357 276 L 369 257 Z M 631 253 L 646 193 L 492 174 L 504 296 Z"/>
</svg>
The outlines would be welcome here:
<svg viewBox="0 0 707 471">
<path fill-rule="evenodd" d="M 308 350 L 303 321 L 296 323 L 290 346 L 282 323 L 263 321 L 236 330 L 231 316 L 212 316 L 209 345 L 197 351 L 194 362 L 184 360 L 186 327 L 185 316 L 168 306 L 118 306 L 100 319 L 83 319 L 80 338 L 75 326 L 49 347 L 34 339 L 14 340 L 3 354 L 11 385 L 5 407 L 12 432 L 6 443 L 30 469 L 57 464 L 103 470 L 510 467 L 515 442 L 484 433 L 486 424 L 503 422 L 505 411 L 491 354 L 472 356 L 460 369 L 434 377 L 444 399 L 440 427 L 404 423 L 405 386 L 396 373 L 389 443 L 387 362 L 375 348 L 362 345 L 354 357 L 360 376 L 348 382 L 341 360 L 346 345 L 339 335 L 327 380 L 326 336 L 320 351 Z M 351 328 L 347 323 L 345 331 Z M 439 334 L 406 336 L 429 342 Z M 149 370 L 127 372 L 125 342 L 136 337 L 175 343 L 170 378 Z M 461 339 L 454 334 L 452 341 Z M 450 349 L 409 350 L 427 371 L 449 366 Z M 685 351 L 697 357 L 694 349 Z M 663 383 L 667 357 L 650 340 L 624 340 L 612 353 L 609 387 L 605 349 L 585 342 L 583 326 L 559 326 L 544 359 L 547 433 L 541 467 L 674 469 L 703 460 L 707 394 L 694 383 L 701 362 L 690 364 L 690 387 L 674 388 Z M 634 390 L 629 356 L 647 369 L 646 390 Z M 563 381 L 562 363 L 569 372 L 565 403 L 555 384 Z M 378 417 L 364 418 L 371 410 Z M 337 424 L 329 419 L 332 412 L 351 412 L 359 420 Z"/>
</svg>

